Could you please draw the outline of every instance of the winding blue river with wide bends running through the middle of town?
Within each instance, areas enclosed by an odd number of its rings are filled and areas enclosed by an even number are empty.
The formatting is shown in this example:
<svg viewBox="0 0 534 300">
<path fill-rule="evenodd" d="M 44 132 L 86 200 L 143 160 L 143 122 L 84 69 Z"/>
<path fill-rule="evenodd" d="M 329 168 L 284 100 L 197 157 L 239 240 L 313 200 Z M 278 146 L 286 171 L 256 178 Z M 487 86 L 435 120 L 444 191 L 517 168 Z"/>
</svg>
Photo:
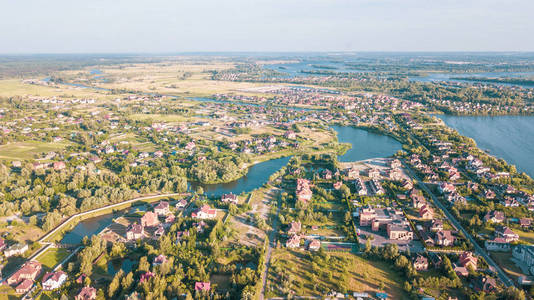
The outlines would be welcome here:
<svg viewBox="0 0 534 300">
<path fill-rule="evenodd" d="M 340 142 L 352 144 L 350 150 L 339 156 L 339 160 L 343 162 L 391 156 L 401 149 L 401 144 L 389 136 L 348 126 L 332 126 L 332 128 L 337 131 Z M 194 189 L 200 185 L 206 195 L 215 197 L 225 193 L 247 193 L 265 184 L 269 180 L 269 177 L 287 165 L 289 160 L 290 157 L 268 160 L 252 165 L 248 169 L 248 173 L 238 180 L 220 184 L 191 183 L 191 188 Z M 130 210 L 135 210 L 135 208 L 131 208 Z M 114 218 L 122 215 L 124 212 L 105 214 L 83 220 L 72 231 L 64 235 L 61 243 L 79 244 L 85 236 L 91 237 L 94 234 L 98 234 L 111 224 Z"/>
</svg>

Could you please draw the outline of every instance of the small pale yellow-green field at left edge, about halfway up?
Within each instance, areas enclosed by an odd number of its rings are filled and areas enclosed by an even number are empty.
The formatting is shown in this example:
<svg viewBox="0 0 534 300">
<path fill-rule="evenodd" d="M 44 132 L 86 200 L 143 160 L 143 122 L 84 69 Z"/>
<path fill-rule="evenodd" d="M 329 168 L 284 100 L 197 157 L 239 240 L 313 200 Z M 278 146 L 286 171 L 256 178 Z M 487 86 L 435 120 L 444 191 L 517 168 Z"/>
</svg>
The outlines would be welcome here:
<svg viewBox="0 0 534 300">
<path fill-rule="evenodd" d="M 0 159 L 34 159 L 35 154 L 58 151 L 64 149 L 68 145 L 69 143 L 45 143 L 36 141 L 10 143 L 0 146 Z"/>
</svg>

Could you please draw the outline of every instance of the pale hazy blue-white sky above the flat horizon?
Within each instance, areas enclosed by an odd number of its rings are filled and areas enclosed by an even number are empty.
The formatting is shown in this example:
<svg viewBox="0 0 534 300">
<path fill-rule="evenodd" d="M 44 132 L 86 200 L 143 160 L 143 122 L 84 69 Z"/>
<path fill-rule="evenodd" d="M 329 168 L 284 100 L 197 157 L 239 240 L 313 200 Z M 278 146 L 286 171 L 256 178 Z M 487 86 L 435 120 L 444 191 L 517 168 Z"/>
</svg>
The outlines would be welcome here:
<svg viewBox="0 0 534 300">
<path fill-rule="evenodd" d="M 0 0 L 0 53 L 534 51 L 533 0 Z"/>
</svg>

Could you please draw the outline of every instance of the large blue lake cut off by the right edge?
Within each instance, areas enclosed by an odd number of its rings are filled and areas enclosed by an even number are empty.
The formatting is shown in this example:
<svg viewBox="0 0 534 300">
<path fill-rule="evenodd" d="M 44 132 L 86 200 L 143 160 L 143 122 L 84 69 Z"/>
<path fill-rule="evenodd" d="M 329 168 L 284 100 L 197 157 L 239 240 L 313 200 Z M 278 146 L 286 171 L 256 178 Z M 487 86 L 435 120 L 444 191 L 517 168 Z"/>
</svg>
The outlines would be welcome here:
<svg viewBox="0 0 534 300">
<path fill-rule="evenodd" d="M 436 117 L 474 139 L 479 148 L 489 150 L 534 178 L 534 116 Z"/>
</svg>

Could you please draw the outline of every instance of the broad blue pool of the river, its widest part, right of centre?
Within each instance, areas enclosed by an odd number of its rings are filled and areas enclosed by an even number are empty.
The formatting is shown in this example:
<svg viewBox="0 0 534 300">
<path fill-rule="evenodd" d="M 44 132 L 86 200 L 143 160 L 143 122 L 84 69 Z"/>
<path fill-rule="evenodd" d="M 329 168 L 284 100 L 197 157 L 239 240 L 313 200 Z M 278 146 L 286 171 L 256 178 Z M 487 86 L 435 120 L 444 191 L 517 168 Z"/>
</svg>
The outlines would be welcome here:
<svg viewBox="0 0 534 300">
<path fill-rule="evenodd" d="M 402 149 L 401 143 L 389 136 L 346 126 L 332 128 L 337 131 L 339 142 L 352 144 L 351 149 L 338 157 L 341 162 L 388 157 Z"/>
</svg>

